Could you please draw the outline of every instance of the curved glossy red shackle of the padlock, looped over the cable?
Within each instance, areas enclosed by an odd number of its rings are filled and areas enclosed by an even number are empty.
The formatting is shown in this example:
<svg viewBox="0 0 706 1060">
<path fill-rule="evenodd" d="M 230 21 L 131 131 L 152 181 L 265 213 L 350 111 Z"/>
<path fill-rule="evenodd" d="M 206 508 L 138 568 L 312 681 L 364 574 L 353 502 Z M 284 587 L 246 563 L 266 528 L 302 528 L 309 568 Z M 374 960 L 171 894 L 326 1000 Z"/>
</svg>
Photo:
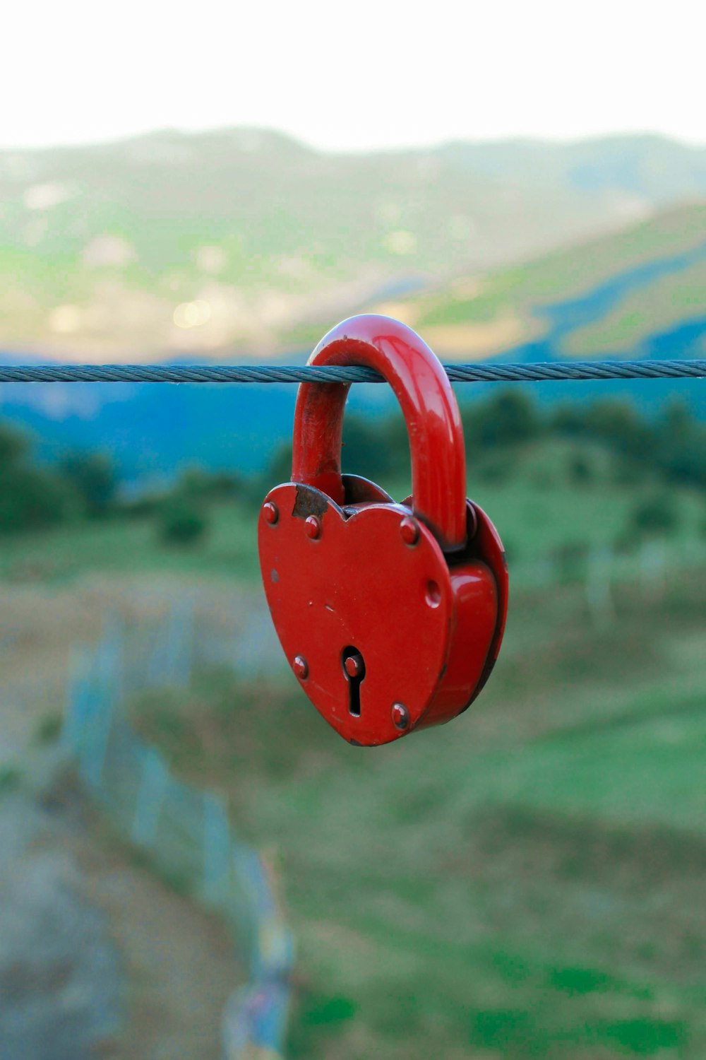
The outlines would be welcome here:
<svg viewBox="0 0 706 1060">
<path fill-rule="evenodd" d="M 398 320 L 365 314 L 342 321 L 309 365 L 362 365 L 384 375 L 400 403 L 410 438 L 415 515 L 445 551 L 466 544 L 466 450 L 458 404 L 439 359 Z M 296 394 L 292 481 L 344 504 L 343 410 L 349 383 L 302 383 Z"/>
</svg>

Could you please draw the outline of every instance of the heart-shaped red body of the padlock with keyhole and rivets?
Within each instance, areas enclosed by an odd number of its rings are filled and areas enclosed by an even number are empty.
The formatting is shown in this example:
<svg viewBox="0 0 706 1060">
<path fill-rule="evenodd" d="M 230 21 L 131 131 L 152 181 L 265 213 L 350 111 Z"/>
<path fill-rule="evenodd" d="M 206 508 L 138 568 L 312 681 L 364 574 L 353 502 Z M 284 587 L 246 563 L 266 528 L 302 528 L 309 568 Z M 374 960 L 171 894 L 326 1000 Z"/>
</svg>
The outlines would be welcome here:
<svg viewBox="0 0 706 1060">
<path fill-rule="evenodd" d="M 273 506 L 276 519 L 272 507 L 269 519 L 260 515 L 260 566 L 302 687 L 344 739 L 370 746 L 468 706 L 497 654 L 507 581 L 500 540 L 470 502 L 471 540 L 450 567 L 409 506 L 362 479 L 348 480 L 346 493 L 352 502 L 342 508 L 313 487 L 272 490 L 263 512 Z M 416 528 L 413 543 L 404 520 Z M 364 664 L 356 687 L 345 669 L 351 653 Z"/>
</svg>

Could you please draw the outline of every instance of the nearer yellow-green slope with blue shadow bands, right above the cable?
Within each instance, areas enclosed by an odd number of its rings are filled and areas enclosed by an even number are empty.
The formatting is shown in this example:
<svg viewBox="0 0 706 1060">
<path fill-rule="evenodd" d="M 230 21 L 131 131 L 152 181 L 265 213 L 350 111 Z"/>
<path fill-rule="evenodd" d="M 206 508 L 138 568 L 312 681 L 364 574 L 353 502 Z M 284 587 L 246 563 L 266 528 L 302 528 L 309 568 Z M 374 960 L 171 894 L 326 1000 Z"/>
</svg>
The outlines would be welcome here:
<svg viewBox="0 0 706 1060">
<path fill-rule="evenodd" d="M 651 336 L 706 317 L 706 200 L 376 307 L 447 358 L 647 356 Z"/>
</svg>

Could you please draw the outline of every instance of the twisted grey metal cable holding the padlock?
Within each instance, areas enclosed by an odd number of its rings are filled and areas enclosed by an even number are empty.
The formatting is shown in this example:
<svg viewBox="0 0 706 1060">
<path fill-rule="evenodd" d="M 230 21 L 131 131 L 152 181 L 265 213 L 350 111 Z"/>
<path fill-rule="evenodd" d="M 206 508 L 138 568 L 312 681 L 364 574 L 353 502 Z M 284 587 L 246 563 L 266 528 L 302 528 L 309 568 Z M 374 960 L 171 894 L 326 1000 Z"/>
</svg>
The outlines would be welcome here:
<svg viewBox="0 0 706 1060">
<path fill-rule="evenodd" d="M 706 360 L 576 360 L 445 365 L 452 383 L 678 379 L 706 376 Z M 369 368 L 310 365 L 3 365 L 0 383 L 384 383 Z"/>
</svg>

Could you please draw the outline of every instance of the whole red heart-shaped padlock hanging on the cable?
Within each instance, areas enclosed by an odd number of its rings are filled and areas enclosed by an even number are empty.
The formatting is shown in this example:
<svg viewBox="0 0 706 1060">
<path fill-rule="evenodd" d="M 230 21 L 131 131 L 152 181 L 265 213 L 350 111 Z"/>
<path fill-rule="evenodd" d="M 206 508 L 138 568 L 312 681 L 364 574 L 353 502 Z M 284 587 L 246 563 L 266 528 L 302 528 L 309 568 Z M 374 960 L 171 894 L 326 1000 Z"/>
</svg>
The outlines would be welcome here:
<svg viewBox="0 0 706 1060">
<path fill-rule="evenodd" d="M 267 495 L 258 543 L 282 647 L 319 712 L 349 743 L 388 743 L 460 713 L 500 651 L 508 579 L 501 540 L 466 499 L 458 405 L 410 328 L 344 320 L 310 365 L 365 365 L 402 407 L 412 497 L 341 474 L 349 385 L 303 383 L 292 481 Z"/>
</svg>

